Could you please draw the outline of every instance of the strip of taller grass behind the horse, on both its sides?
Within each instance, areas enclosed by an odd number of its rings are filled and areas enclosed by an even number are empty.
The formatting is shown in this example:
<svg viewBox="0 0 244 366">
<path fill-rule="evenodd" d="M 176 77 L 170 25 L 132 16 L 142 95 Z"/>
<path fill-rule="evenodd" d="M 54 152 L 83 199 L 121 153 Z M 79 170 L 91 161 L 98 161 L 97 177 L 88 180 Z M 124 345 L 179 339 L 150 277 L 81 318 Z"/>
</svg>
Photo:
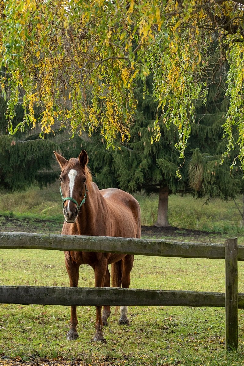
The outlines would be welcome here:
<svg viewBox="0 0 244 366">
<path fill-rule="evenodd" d="M 142 225 L 153 225 L 157 220 L 157 195 L 146 197 L 136 194 L 135 197 L 141 206 Z M 236 203 L 242 212 L 243 197 L 237 198 Z M 31 187 L 26 192 L 0 195 L 0 217 L 6 216 L 12 220 L 30 220 L 36 227 L 40 220 L 53 221 L 53 227 L 48 227 L 49 232 L 55 231 L 55 226 L 59 226 L 57 231 L 60 232 L 63 214 L 59 182 L 43 190 Z M 244 236 L 244 223 L 241 223 L 234 201 L 211 199 L 206 203 L 206 199 L 194 199 L 191 195 L 170 195 L 168 218 L 173 227 Z M 9 226 L 12 229 L 11 220 Z M 40 223 L 40 230 L 43 226 L 43 222 Z"/>
</svg>

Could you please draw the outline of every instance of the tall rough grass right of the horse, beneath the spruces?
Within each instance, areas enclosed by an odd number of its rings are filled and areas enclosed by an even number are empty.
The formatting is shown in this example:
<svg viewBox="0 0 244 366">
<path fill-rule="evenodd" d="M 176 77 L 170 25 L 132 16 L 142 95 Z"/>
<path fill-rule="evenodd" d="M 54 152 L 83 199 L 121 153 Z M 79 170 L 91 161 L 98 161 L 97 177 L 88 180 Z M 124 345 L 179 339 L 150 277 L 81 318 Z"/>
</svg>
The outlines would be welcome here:
<svg viewBox="0 0 244 366">
<path fill-rule="evenodd" d="M 142 225 L 153 225 L 157 221 L 158 197 L 136 194 L 142 209 Z M 241 212 L 244 209 L 243 198 L 236 199 Z M 191 195 L 169 196 L 169 223 L 172 226 L 204 231 L 238 232 L 241 215 L 234 201 L 220 199 L 194 199 Z M 244 223 L 242 222 L 242 226 Z"/>
</svg>

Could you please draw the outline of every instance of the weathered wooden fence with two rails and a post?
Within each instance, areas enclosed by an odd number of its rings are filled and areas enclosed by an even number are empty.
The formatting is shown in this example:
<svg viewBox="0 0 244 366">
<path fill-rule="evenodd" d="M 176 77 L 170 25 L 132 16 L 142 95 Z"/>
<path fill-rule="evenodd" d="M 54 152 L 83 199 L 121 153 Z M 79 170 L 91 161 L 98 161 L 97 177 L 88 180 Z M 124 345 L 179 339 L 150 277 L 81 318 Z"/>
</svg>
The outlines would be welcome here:
<svg viewBox="0 0 244 366">
<path fill-rule="evenodd" d="M 0 303 L 225 307 L 226 350 L 237 349 L 237 309 L 244 308 L 244 294 L 237 293 L 237 261 L 244 261 L 244 246 L 237 247 L 237 238 L 226 239 L 224 245 L 111 238 L 106 236 L 1 232 L 0 248 L 74 250 L 161 257 L 225 259 L 225 293 L 100 287 L 0 286 Z"/>
</svg>

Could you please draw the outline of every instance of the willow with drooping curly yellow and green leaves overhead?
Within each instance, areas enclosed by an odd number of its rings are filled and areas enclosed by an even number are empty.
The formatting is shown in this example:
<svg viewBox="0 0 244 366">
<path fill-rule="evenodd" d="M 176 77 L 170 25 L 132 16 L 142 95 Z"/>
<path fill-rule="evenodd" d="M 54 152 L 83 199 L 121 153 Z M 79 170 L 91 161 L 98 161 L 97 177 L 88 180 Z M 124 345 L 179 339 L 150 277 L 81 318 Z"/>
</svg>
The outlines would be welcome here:
<svg viewBox="0 0 244 366">
<path fill-rule="evenodd" d="M 204 74 L 209 50 L 218 44 L 217 65 L 229 64 L 230 99 L 223 134 L 227 156 L 234 143 L 244 167 L 244 1 L 222 0 L 8 0 L 0 3 L 1 93 L 7 97 L 11 134 L 53 124 L 71 134 L 101 127 L 108 146 L 129 138 L 136 109 L 136 79 L 153 74 L 156 115 L 151 139 L 164 123 L 176 126 L 176 148 L 184 157 L 194 123 L 195 102 L 206 100 Z M 23 121 L 12 123 L 21 103 Z M 237 140 L 232 126 L 239 131 Z"/>
</svg>

